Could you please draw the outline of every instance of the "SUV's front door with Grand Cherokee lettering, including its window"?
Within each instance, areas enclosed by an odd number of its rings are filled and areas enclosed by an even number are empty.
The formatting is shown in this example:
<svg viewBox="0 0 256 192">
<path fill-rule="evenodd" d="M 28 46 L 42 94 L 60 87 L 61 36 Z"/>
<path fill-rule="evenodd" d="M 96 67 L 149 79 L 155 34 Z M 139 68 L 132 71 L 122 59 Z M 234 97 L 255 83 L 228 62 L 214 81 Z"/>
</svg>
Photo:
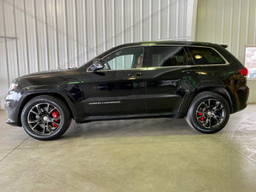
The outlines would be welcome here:
<svg viewBox="0 0 256 192">
<path fill-rule="evenodd" d="M 117 49 L 103 56 L 102 70 L 85 74 L 84 109 L 87 115 L 145 113 L 143 47 Z M 90 68 L 90 67 L 89 67 Z"/>
</svg>

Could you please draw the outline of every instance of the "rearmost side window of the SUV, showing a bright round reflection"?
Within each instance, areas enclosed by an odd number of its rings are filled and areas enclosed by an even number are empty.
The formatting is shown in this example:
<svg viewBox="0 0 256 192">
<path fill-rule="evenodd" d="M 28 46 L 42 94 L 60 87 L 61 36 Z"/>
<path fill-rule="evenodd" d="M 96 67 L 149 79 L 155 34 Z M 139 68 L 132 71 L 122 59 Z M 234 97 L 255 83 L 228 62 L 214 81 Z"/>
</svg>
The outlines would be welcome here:
<svg viewBox="0 0 256 192">
<path fill-rule="evenodd" d="M 188 47 L 195 65 L 225 64 L 224 59 L 214 49 L 203 47 Z"/>
</svg>

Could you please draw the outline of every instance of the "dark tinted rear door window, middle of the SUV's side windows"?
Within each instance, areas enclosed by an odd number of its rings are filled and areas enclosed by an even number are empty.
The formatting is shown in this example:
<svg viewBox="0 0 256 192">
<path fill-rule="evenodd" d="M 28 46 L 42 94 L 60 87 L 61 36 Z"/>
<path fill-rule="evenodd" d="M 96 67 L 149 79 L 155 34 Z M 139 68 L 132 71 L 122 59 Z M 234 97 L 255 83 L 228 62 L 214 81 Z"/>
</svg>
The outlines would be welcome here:
<svg viewBox="0 0 256 192">
<path fill-rule="evenodd" d="M 183 47 L 149 47 L 148 67 L 175 67 L 188 65 L 188 57 Z"/>
</svg>

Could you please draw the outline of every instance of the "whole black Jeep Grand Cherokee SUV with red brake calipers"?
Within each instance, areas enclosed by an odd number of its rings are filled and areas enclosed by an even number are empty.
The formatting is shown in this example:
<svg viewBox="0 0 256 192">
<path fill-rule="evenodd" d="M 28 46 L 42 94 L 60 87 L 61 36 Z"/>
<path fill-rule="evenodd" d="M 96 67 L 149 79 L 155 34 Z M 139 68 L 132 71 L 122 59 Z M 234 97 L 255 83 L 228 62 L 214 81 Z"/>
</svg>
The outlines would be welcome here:
<svg viewBox="0 0 256 192">
<path fill-rule="evenodd" d="M 11 125 L 49 140 L 77 123 L 186 117 L 203 133 L 247 107 L 247 68 L 226 45 L 142 42 L 109 49 L 84 66 L 15 79 L 6 98 Z"/>
</svg>

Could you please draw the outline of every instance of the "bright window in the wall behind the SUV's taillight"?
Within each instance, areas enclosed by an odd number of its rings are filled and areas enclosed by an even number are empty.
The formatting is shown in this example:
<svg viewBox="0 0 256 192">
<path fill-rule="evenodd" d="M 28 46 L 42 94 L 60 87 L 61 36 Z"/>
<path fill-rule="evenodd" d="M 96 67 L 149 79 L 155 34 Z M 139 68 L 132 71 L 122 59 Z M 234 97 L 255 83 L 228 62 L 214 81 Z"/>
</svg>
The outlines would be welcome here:
<svg viewBox="0 0 256 192">
<path fill-rule="evenodd" d="M 247 77 L 256 79 L 256 45 L 246 47 L 245 66 L 249 71 Z"/>
</svg>

